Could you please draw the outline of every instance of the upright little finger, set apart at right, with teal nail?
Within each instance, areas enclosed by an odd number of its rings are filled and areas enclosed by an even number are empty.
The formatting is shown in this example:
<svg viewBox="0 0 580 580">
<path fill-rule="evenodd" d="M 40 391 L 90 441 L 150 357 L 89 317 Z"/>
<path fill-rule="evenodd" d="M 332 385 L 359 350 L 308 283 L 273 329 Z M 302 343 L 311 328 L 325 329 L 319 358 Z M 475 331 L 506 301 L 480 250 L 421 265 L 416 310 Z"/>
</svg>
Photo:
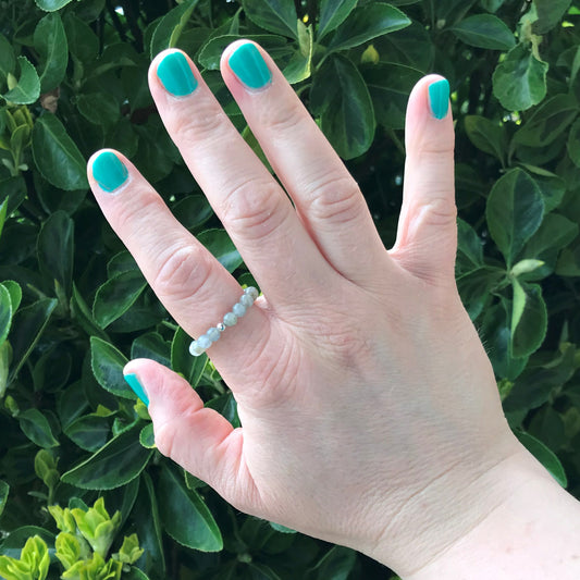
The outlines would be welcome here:
<svg viewBox="0 0 580 580">
<path fill-rule="evenodd" d="M 425 76 L 409 97 L 405 182 L 397 242 L 391 255 L 432 283 L 455 281 L 457 209 L 449 84 Z"/>
</svg>

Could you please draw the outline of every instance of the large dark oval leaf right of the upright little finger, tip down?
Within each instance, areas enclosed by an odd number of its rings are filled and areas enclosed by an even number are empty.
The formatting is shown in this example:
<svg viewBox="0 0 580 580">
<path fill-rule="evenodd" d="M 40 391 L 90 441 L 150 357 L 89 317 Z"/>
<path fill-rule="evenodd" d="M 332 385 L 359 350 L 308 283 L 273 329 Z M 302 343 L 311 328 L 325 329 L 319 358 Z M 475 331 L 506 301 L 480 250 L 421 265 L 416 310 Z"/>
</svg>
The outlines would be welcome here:
<svg viewBox="0 0 580 580">
<path fill-rule="evenodd" d="M 525 171 L 515 169 L 497 180 L 488 199 L 485 217 L 508 268 L 540 227 L 543 215 L 540 188 Z"/>
</svg>

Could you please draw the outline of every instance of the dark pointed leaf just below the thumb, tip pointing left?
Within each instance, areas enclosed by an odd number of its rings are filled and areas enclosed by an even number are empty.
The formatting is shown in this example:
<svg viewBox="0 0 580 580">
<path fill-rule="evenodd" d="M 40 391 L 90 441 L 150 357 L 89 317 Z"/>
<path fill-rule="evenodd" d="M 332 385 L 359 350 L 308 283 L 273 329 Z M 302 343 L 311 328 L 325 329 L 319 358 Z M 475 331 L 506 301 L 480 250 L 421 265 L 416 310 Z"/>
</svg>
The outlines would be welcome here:
<svg viewBox="0 0 580 580">
<path fill-rule="evenodd" d="M 83 490 L 113 490 L 133 481 L 153 453 L 139 443 L 139 425 L 123 431 L 95 455 L 63 473 L 62 481 Z"/>
</svg>

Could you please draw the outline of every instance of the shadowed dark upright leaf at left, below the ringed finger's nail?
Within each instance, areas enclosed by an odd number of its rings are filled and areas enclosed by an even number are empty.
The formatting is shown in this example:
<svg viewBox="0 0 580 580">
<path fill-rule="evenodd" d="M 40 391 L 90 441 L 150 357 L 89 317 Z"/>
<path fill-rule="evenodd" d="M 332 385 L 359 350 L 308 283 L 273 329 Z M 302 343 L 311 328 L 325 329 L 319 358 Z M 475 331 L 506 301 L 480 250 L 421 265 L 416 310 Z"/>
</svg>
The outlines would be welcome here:
<svg viewBox="0 0 580 580">
<path fill-rule="evenodd" d="M 50 282 L 71 295 L 74 257 L 74 222 L 64 211 L 49 215 L 38 234 L 38 266 Z"/>
</svg>

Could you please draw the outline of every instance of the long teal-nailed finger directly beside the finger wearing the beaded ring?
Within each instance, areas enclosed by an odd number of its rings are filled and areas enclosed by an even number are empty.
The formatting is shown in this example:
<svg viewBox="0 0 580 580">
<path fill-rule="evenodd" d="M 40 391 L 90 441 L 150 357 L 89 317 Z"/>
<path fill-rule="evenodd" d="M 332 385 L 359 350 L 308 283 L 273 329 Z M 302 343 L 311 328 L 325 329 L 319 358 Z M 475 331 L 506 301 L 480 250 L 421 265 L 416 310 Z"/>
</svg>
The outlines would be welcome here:
<svg viewBox="0 0 580 580">
<path fill-rule="evenodd" d="M 280 185 L 242 138 L 189 58 L 156 57 L 149 86 L 173 141 L 272 304 L 304 301 L 332 272 Z"/>
</svg>

